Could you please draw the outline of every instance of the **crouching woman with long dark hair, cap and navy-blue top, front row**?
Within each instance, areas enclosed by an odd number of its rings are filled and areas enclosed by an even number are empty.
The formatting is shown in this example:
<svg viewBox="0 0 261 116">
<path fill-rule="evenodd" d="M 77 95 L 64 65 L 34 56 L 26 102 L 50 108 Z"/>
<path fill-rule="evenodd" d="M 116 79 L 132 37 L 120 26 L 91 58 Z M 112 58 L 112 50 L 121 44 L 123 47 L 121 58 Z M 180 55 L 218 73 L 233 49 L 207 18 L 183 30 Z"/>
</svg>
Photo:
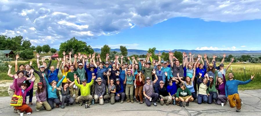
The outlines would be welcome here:
<svg viewBox="0 0 261 116">
<path fill-rule="evenodd" d="M 122 104 L 125 99 L 125 96 L 126 96 L 126 94 L 124 93 L 124 89 L 123 89 L 123 82 L 119 78 L 116 78 L 115 86 L 116 86 L 115 100 L 119 100 L 120 98 L 122 98 L 121 99 L 121 104 Z"/>
</svg>

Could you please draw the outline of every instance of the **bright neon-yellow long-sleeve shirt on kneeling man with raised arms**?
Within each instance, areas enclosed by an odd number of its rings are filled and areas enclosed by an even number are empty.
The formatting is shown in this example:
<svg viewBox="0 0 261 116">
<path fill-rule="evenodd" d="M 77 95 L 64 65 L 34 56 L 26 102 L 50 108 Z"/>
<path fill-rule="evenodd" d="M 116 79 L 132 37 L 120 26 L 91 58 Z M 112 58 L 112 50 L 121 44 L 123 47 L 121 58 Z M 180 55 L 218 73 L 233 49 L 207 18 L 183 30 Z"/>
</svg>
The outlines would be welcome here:
<svg viewBox="0 0 261 116">
<path fill-rule="evenodd" d="M 77 79 L 74 80 L 74 83 L 79 89 L 81 90 L 82 96 L 90 95 L 90 86 L 93 84 L 93 79 L 90 83 L 87 83 L 86 86 L 83 86 L 82 84 L 78 84 Z"/>
</svg>

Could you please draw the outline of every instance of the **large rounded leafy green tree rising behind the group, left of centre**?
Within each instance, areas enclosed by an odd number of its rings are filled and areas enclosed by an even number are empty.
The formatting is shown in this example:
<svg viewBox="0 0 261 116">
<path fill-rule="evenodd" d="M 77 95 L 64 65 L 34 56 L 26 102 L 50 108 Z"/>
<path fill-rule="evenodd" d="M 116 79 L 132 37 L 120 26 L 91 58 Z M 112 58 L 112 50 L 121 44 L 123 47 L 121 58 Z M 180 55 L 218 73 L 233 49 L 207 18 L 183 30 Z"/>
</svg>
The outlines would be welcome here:
<svg viewBox="0 0 261 116">
<path fill-rule="evenodd" d="M 93 54 L 94 52 L 90 45 L 87 46 L 86 42 L 78 41 L 75 37 L 61 43 L 59 49 L 59 56 L 63 56 L 63 51 L 67 53 L 71 51 L 73 54 L 77 54 L 78 52 L 81 54 Z"/>
</svg>

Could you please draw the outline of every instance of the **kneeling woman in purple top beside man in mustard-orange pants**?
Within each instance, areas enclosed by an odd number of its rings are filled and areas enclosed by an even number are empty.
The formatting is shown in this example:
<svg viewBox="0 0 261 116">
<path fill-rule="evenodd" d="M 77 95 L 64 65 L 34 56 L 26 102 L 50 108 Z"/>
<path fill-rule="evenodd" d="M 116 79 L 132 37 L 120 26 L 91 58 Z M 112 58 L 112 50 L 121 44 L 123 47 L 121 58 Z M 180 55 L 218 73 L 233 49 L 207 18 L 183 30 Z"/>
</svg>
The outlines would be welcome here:
<svg viewBox="0 0 261 116">
<path fill-rule="evenodd" d="M 223 72 L 221 73 L 223 78 L 218 77 L 218 85 L 216 86 L 216 89 L 218 90 L 218 105 L 221 105 L 221 103 L 224 103 L 224 105 L 226 105 L 226 100 L 227 100 L 226 93 L 225 93 L 226 78 Z"/>
</svg>

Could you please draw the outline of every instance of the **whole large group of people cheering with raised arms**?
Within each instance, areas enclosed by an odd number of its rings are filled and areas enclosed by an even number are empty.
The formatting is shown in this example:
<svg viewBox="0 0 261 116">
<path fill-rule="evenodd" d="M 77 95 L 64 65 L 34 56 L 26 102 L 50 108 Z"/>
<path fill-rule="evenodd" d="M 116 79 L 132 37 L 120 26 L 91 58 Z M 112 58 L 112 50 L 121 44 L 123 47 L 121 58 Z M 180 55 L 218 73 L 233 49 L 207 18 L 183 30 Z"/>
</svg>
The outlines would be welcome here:
<svg viewBox="0 0 261 116">
<path fill-rule="evenodd" d="M 22 106 L 14 106 L 14 113 L 32 113 L 32 93 L 35 75 L 39 78 L 37 83 L 36 111 L 44 107 L 50 111 L 53 108 L 65 108 L 65 106 L 84 103 L 89 105 L 103 105 L 105 103 L 120 104 L 127 103 L 143 104 L 146 106 L 177 105 L 182 107 L 183 102 L 189 106 L 189 102 L 197 101 L 197 104 L 213 102 L 217 105 L 227 102 L 231 107 L 236 106 L 236 111 L 241 112 L 241 99 L 238 94 L 238 85 L 247 84 L 253 80 L 254 75 L 247 81 L 234 80 L 234 74 L 229 72 L 226 80 L 226 71 L 233 62 L 224 68 L 224 58 L 219 66 L 216 66 L 215 58 L 209 63 L 207 55 L 204 60 L 197 55 L 194 61 L 193 56 L 183 52 L 182 64 L 169 52 L 169 61 L 161 59 L 161 54 L 156 54 L 158 60 L 151 58 L 147 53 L 145 60 L 135 57 L 128 57 L 128 62 L 123 62 L 124 56 L 116 55 L 114 60 L 109 61 L 109 54 L 106 61 L 102 61 L 100 55 L 73 55 L 72 52 L 63 52 L 63 61 L 57 58 L 57 66 L 50 66 L 52 59 L 49 57 L 48 65 L 42 60 L 39 63 L 40 55 L 37 54 L 37 69 L 30 64 L 17 66 L 19 55 L 16 55 L 15 71 L 11 74 L 12 66 L 9 65 L 8 76 L 14 79 L 13 84 L 8 88 L 10 97 L 21 95 Z M 189 57 L 189 58 L 188 58 Z M 73 62 L 72 62 L 73 61 Z M 59 69 L 61 77 L 58 78 Z M 60 98 L 61 94 L 61 98 Z M 73 95 L 75 96 L 73 97 Z M 29 96 L 29 103 L 26 104 L 26 96 Z M 152 102 L 152 103 L 151 103 Z M 55 105 L 54 105 L 55 104 Z"/>
</svg>

